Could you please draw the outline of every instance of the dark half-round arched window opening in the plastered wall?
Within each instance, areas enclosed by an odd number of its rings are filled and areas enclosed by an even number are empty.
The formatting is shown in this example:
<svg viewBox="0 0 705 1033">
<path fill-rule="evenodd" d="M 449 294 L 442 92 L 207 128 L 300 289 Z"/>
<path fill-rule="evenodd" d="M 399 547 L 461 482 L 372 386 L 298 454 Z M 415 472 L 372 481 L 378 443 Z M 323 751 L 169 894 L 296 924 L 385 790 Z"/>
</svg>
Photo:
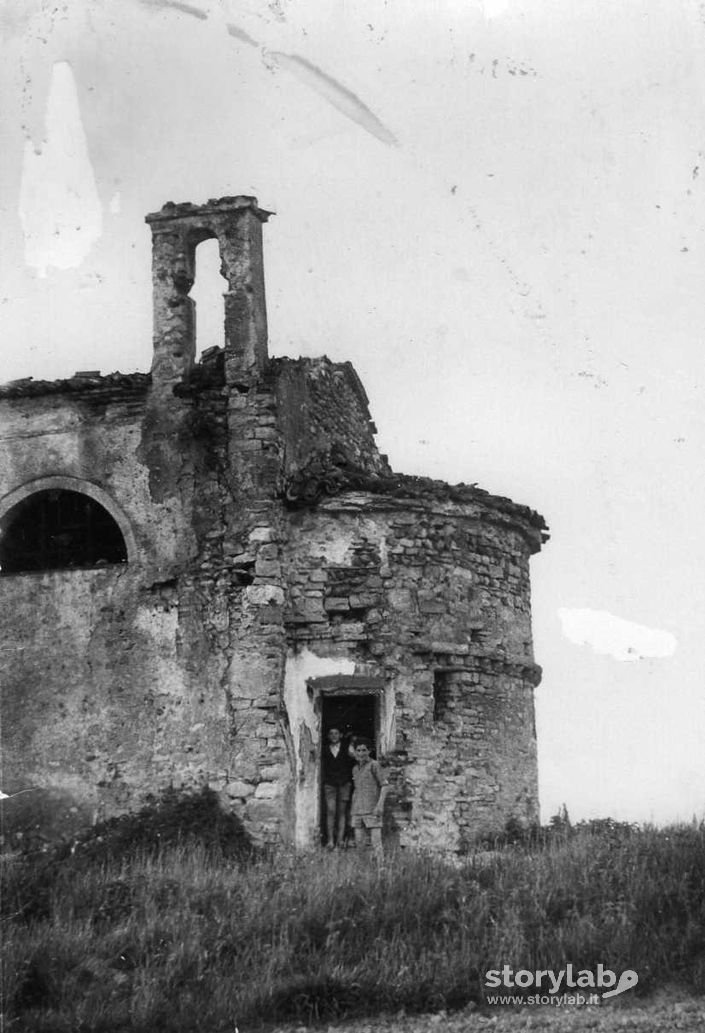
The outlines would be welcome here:
<svg viewBox="0 0 705 1033">
<path fill-rule="evenodd" d="M 80 492 L 36 492 L 0 521 L 0 575 L 126 562 L 115 520 Z"/>
</svg>

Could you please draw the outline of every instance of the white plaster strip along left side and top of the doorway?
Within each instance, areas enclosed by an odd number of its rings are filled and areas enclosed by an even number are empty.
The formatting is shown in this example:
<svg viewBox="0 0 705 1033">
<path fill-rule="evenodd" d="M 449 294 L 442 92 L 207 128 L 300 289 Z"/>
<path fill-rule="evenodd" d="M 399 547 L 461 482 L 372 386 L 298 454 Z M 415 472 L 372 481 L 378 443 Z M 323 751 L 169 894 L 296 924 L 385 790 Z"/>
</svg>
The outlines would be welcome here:
<svg viewBox="0 0 705 1033">
<path fill-rule="evenodd" d="M 284 670 L 284 707 L 294 742 L 297 771 L 295 839 L 299 847 L 311 846 L 317 824 L 319 717 L 306 683 L 327 675 L 354 675 L 355 662 L 344 657 L 319 657 L 308 649 L 289 654 Z M 313 754 L 312 756 L 303 756 Z"/>
</svg>

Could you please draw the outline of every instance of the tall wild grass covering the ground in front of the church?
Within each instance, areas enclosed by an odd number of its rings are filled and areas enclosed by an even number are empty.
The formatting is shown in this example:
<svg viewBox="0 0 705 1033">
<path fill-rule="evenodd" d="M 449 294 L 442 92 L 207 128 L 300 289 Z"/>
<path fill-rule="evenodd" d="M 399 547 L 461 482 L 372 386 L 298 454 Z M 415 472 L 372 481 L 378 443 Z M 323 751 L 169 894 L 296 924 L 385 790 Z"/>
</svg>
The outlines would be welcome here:
<svg viewBox="0 0 705 1033">
<path fill-rule="evenodd" d="M 3 879 L 8 1030 L 232 1033 L 452 1008 L 484 1000 L 503 965 L 602 963 L 636 969 L 642 989 L 705 990 L 705 832 L 692 826 L 608 824 L 462 863 L 228 860 L 191 843 L 69 856 L 51 878 L 27 865 Z"/>
</svg>

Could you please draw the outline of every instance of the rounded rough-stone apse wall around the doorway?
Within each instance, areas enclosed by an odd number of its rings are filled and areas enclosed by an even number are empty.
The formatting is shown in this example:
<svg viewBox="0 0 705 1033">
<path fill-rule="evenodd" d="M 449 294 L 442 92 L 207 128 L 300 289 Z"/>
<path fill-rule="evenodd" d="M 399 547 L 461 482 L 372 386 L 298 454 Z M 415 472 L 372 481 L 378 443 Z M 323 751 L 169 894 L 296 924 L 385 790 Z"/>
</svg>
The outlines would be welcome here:
<svg viewBox="0 0 705 1033">
<path fill-rule="evenodd" d="M 391 821 L 404 844 L 457 848 L 509 818 L 538 817 L 528 560 L 541 528 L 473 494 L 348 493 L 290 518 L 285 621 L 298 695 L 307 681 L 315 690 L 323 659 L 347 660 L 342 691 L 356 685 L 349 676 L 361 691 L 376 680 Z M 296 749 L 306 843 L 316 828 L 315 708 L 294 716 L 292 732 L 295 748 L 311 743 L 311 756 Z"/>
</svg>

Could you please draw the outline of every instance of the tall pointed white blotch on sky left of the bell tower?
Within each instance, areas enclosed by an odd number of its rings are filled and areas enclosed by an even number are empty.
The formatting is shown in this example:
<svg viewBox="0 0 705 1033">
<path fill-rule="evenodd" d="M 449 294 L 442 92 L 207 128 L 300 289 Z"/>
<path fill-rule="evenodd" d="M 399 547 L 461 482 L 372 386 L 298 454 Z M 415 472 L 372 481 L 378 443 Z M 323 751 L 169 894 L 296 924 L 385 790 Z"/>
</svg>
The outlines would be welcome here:
<svg viewBox="0 0 705 1033">
<path fill-rule="evenodd" d="M 44 142 L 25 143 L 20 191 L 25 261 L 45 276 L 50 265 L 80 265 L 102 232 L 102 211 L 88 153 L 71 66 L 57 62 L 47 100 Z"/>
</svg>

